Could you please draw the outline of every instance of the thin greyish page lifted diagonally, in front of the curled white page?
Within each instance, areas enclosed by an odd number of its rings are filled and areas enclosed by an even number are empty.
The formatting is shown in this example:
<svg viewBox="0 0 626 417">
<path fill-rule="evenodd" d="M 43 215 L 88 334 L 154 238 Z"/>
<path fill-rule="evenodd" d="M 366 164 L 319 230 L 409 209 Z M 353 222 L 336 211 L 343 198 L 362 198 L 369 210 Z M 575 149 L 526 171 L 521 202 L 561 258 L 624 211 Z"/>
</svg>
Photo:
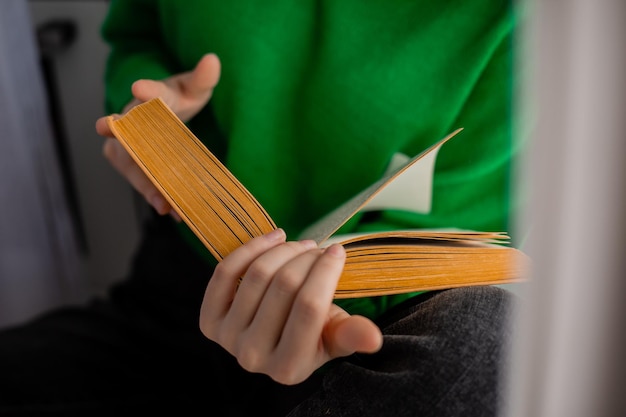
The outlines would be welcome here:
<svg viewBox="0 0 626 417">
<path fill-rule="evenodd" d="M 425 165 L 431 165 L 434 167 L 434 157 L 426 158 L 429 155 L 436 155 L 441 146 L 454 137 L 457 133 L 459 133 L 462 128 L 455 130 L 450 133 L 448 136 L 439 140 L 437 143 L 427 148 L 425 151 L 421 152 L 417 156 L 413 157 L 409 162 L 405 165 L 392 170 L 391 172 L 384 175 L 380 180 L 376 181 L 350 200 L 337 207 L 335 210 L 331 211 L 326 216 L 322 217 L 318 222 L 314 223 L 306 230 L 302 232 L 300 235 L 300 239 L 313 239 L 318 244 L 324 242 L 328 237 L 330 237 L 337 229 L 339 229 L 350 217 L 352 217 L 357 211 L 365 207 L 373 198 L 381 192 L 389 183 L 392 181 L 397 181 L 404 175 L 407 171 L 410 173 L 409 168 L 414 166 L 415 164 L 424 162 Z M 421 172 L 418 169 L 418 172 Z M 432 174 L 431 174 L 432 175 Z M 432 181 L 431 181 L 432 182 Z M 377 202 L 377 204 L 380 201 Z"/>
</svg>

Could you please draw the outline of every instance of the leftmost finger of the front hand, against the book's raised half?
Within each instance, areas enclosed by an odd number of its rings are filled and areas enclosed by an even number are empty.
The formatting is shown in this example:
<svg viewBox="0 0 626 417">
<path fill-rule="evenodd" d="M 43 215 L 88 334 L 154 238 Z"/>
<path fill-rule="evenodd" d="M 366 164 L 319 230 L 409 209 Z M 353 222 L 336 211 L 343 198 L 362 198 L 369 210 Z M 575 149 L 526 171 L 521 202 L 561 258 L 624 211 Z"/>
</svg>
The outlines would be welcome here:
<svg viewBox="0 0 626 417">
<path fill-rule="evenodd" d="M 267 250 L 284 243 L 285 238 L 284 230 L 273 230 L 251 239 L 217 264 L 202 301 L 200 318 L 205 336 L 215 340 L 216 323 L 221 322 L 230 310 L 239 279 L 249 265 Z"/>
</svg>

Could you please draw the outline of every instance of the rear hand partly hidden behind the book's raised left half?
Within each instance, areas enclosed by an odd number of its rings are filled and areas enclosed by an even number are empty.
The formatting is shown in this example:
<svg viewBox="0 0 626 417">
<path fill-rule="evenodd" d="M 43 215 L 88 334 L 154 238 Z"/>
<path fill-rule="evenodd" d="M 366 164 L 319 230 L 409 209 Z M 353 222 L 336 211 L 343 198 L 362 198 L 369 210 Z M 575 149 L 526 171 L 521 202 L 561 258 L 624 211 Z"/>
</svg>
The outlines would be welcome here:
<svg viewBox="0 0 626 417">
<path fill-rule="evenodd" d="M 132 85 L 134 99 L 124 113 L 139 103 L 161 97 L 183 121 L 195 116 L 209 101 L 220 78 L 220 61 L 215 54 L 207 54 L 196 67 L 161 81 L 138 80 Z M 172 214 L 179 219 L 161 192 L 152 184 L 141 168 L 113 136 L 106 116 L 96 121 L 96 132 L 105 137 L 102 151 L 105 158 L 154 207 L 159 214 Z"/>
</svg>

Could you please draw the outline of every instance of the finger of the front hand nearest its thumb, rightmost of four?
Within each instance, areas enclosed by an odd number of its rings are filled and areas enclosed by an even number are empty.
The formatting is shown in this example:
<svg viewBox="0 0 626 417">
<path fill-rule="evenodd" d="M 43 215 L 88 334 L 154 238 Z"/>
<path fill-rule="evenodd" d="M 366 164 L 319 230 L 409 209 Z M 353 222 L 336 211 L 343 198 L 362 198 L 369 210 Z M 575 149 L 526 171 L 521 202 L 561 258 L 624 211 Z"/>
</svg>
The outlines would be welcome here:
<svg viewBox="0 0 626 417">
<path fill-rule="evenodd" d="M 320 338 L 345 259 L 343 246 L 328 247 L 313 265 L 298 292 L 276 349 L 280 352 L 277 357 L 281 357 L 287 367 L 289 364 L 297 366 L 301 356 L 317 356 L 320 365 L 328 360 L 321 349 Z"/>
</svg>

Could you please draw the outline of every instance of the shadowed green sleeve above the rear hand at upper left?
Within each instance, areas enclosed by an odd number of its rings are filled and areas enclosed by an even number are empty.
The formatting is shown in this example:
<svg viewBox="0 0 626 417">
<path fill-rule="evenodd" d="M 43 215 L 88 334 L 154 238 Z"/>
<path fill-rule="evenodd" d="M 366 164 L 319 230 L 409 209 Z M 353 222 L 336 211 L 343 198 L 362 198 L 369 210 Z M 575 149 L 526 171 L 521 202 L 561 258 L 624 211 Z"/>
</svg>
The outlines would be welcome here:
<svg viewBox="0 0 626 417">
<path fill-rule="evenodd" d="M 162 36 L 158 2 L 112 0 L 101 27 L 110 51 L 105 69 L 105 109 L 119 112 L 132 99 L 138 79 L 163 79 L 176 71 Z"/>
</svg>

